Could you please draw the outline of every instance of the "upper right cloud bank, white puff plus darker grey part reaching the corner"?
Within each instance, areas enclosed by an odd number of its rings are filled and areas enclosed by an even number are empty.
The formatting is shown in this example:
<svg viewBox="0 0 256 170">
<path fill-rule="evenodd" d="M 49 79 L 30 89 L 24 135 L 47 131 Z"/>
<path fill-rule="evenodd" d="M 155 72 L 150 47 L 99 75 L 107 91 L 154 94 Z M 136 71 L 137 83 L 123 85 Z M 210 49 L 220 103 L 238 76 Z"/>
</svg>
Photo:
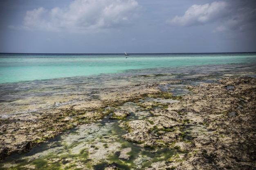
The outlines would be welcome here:
<svg viewBox="0 0 256 170">
<path fill-rule="evenodd" d="M 194 26 L 215 22 L 214 32 L 245 31 L 256 26 L 255 0 L 226 0 L 211 4 L 194 4 L 183 16 L 166 20 L 166 24 Z"/>
</svg>

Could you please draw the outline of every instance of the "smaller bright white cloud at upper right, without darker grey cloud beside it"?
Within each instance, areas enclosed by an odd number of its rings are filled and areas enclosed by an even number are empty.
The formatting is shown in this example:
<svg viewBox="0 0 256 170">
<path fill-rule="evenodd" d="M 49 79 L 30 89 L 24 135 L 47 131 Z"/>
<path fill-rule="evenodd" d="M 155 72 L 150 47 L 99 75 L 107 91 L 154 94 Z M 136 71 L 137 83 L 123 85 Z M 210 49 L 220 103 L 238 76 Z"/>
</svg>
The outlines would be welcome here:
<svg viewBox="0 0 256 170">
<path fill-rule="evenodd" d="M 166 20 L 166 23 L 182 26 L 205 24 L 227 15 L 226 7 L 227 3 L 222 1 L 203 5 L 194 4 L 189 7 L 183 16 L 175 16 L 172 20 Z"/>
</svg>

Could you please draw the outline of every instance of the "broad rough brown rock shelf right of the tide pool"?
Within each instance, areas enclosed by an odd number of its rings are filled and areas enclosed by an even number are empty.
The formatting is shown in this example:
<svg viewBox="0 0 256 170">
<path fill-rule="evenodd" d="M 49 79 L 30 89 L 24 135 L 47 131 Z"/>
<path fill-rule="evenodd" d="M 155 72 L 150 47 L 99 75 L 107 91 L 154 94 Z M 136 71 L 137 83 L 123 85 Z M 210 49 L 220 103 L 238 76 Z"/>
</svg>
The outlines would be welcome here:
<svg viewBox="0 0 256 170">
<path fill-rule="evenodd" d="M 256 79 L 218 82 L 187 86 L 192 94 L 167 109 L 153 110 L 154 117 L 129 122 L 124 138 L 186 152 L 182 159 L 177 155 L 155 169 L 256 169 Z"/>
</svg>

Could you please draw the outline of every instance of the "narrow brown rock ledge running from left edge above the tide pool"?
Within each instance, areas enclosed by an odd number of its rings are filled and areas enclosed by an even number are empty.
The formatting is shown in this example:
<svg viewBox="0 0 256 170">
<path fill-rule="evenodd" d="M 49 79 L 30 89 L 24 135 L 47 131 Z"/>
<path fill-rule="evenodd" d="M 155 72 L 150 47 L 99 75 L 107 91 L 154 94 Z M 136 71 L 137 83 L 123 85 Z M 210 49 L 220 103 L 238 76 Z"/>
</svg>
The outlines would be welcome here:
<svg viewBox="0 0 256 170">
<path fill-rule="evenodd" d="M 0 159 L 13 153 L 25 153 L 79 124 L 90 123 L 110 114 L 107 106 L 118 106 L 159 93 L 157 84 L 137 84 L 123 88 L 100 89 L 98 99 L 74 102 L 31 113 L 7 114 L 0 119 Z M 95 95 L 95 94 L 94 94 Z M 9 106 L 7 106 L 9 108 Z M 8 112 L 7 112 L 8 113 Z M 121 111 L 115 111 L 117 115 Z M 123 114 L 128 116 L 127 113 Z"/>
</svg>

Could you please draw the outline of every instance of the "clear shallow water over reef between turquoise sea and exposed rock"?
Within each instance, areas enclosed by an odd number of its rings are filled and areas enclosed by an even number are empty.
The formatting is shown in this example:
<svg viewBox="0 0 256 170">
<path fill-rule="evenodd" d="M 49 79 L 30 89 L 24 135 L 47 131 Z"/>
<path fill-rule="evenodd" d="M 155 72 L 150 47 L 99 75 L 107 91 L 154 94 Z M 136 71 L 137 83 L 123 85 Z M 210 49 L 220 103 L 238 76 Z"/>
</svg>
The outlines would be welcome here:
<svg viewBox="0 0 256 170">
<path fill-rule="evenodd" d="M 256 63 L 142 69 L 120 74 L 3 83 L 0 84 L 0 117 L 97 99 L 101 91 L 141 82 L 178 80 L 172 88 L 162 85 L 159 88 L 174 95 L 184 95 L 188 93 L 185 88 L 188 84 L 211 83 L 232 76 L 256 77 Z"/>
</svg>

